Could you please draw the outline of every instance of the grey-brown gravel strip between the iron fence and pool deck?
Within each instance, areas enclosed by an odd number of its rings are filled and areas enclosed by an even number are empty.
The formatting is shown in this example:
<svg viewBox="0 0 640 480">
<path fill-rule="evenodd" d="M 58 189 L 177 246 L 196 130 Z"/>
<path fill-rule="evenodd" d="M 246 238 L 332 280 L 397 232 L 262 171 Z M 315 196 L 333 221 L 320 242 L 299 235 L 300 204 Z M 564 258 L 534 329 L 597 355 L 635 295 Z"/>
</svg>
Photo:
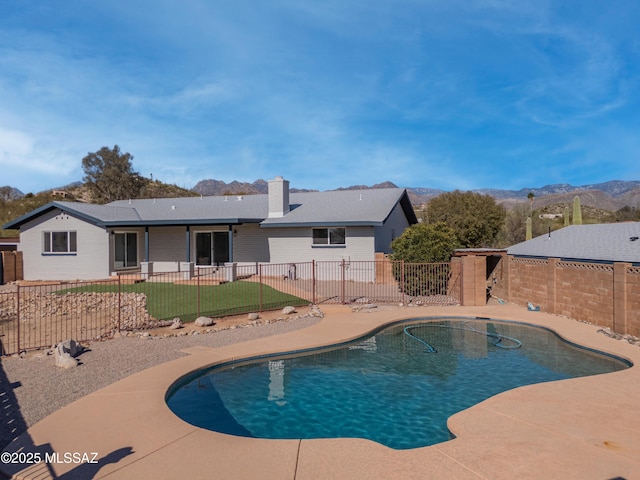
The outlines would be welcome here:
<svg viewBox="0 0 640 480">
<path fill-rule="evenodd" d="M 27 428 L 69 403 L 146 368 L 175 360 L 180 350 L 221 347 L 309 327 L 318 317 L 294 317 L 202 335 L 144 339 L 125 337 L 86 345 L 81 364 L 69 370 L 54 357 L 31 353 L 0 361 L 0 450 Z"/>
</svg>

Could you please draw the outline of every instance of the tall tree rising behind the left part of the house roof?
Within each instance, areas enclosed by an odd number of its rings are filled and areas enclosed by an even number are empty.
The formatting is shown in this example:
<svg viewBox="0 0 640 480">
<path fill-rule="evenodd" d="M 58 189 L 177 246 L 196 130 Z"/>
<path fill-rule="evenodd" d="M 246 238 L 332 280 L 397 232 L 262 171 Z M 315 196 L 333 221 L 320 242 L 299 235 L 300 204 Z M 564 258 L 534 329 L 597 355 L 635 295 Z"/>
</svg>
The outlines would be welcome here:
<svg viewBox="0 0 640 480">
<path fill-rule="evenodd" d="M 82 159 L 84 181 L 96 203 L 137 198 L 148 183 L 133 170 L 130 153 L 121 153 L 120 147 L 102 147 Z"/>
</svg>

